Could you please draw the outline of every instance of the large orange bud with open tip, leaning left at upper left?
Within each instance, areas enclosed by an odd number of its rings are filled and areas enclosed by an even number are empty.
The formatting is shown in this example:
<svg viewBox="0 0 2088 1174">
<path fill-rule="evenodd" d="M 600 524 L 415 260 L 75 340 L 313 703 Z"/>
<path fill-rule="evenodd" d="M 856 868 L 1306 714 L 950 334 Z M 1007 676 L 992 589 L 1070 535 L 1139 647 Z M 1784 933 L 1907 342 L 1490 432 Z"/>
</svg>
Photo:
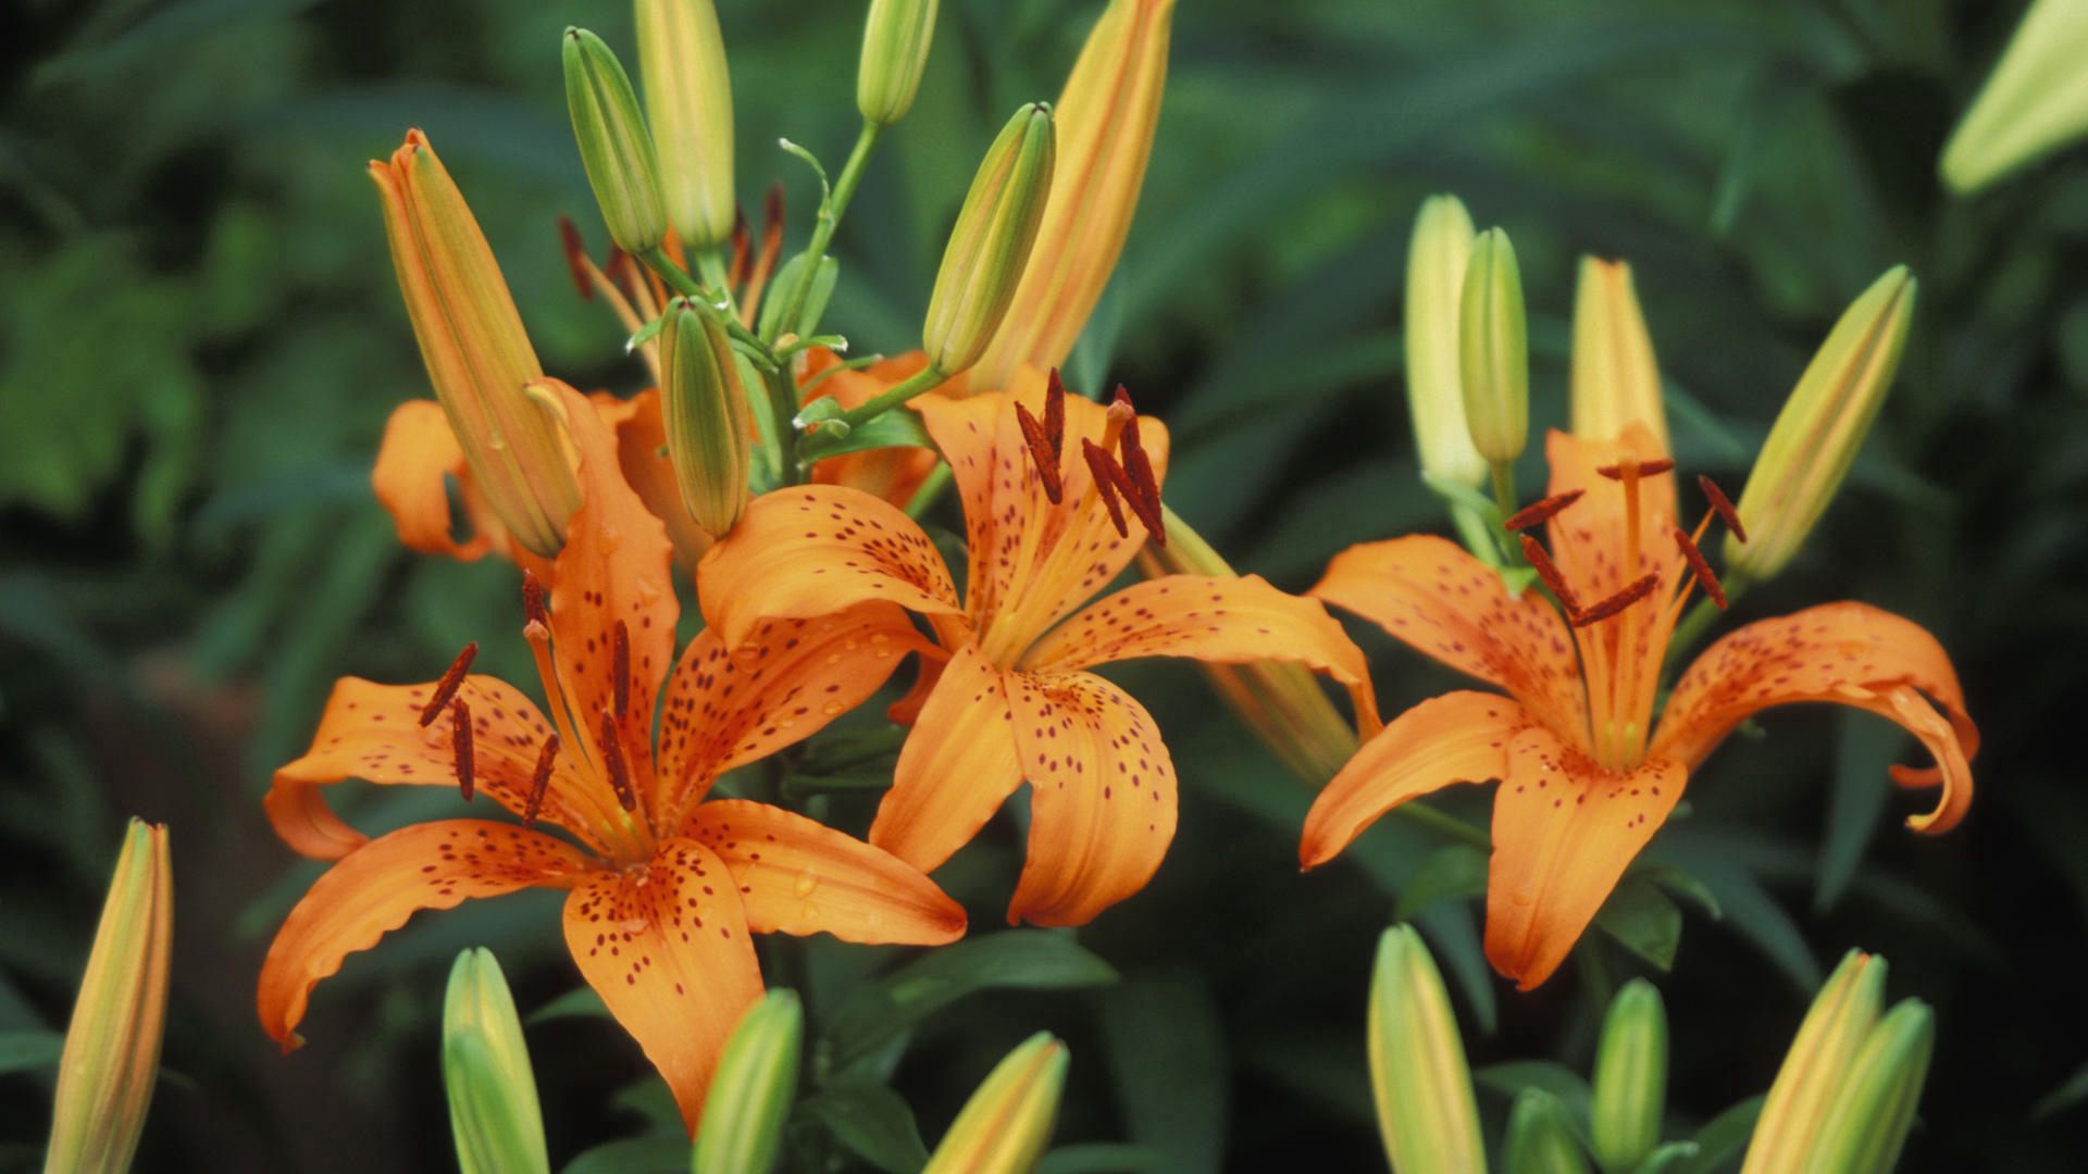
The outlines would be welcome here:
<svg viewBox="0 0 2088 1174">
<path fill-rule="evenodd" d="M 399 292 L 449 430 L 507 533 L 549 558 L 566 543 L 580 487 L 564 424 L 524 391 L 543 378 L 543 366 L 493 249 L 418 130 L 390 161 L 372 161 L 370 178 L 384 201 Z"/>
</svg>

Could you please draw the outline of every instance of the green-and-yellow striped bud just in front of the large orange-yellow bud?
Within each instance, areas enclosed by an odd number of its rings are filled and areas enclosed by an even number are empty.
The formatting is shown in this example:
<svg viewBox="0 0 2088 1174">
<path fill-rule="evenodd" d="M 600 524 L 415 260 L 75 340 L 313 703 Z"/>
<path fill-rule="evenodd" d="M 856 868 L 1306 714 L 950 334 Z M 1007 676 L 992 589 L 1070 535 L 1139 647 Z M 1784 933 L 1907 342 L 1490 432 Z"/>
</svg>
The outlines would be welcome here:
<svg viewBox="0 0 2088 1174">
<path fill-rule="evenodd" d="M 927 361 L 944 374 L 958 374 L 979 359 L 1015 299 L 1044 219 L 1057 150 L 1052 140 L 1050 107 L 1031 102 L 1000 127 L 971 180 L 921 328 Z"/>
</svg>

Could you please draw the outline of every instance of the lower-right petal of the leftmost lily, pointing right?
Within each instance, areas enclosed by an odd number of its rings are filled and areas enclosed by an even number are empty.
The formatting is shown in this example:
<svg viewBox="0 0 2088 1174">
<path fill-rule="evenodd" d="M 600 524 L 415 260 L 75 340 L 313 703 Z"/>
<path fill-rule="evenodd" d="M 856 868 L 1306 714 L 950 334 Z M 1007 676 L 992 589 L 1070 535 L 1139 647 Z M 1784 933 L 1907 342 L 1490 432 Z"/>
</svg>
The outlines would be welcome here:
<svg viewBox="0 0 2088 1174">
<path fill-rule="evenodd" d="M 756 934 L 908 946 L 965 936 L 965 907 L 919 869 L 802 815 L 714 800 L 695 808 L 687 833 L 733 871 Z"/>
</svg>

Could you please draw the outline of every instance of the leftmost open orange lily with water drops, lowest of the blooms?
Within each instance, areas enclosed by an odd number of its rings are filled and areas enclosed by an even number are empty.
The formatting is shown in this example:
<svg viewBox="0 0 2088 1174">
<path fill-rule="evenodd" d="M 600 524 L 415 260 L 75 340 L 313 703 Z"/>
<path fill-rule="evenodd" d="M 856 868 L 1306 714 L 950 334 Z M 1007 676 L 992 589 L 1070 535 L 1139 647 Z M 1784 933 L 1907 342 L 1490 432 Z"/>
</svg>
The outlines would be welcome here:
<svg viewBox="0 0 2088 1174">
<path fill-rule="evenodd" d="M 524 589 L 551 717 L 470 675 L 476 645 L 441 681 L 336 683 L 311 750 L 267 796 L 292 848 L 336 863 L 276 934 L 257 1007 L 294 1049 L 311 988 L 416 911 L 564 888 L 574 963 L 693 1130 L 727 1034 L 762 994 L 750 932 L 908 944 L 965 932 L 965 911 L 889 852 L 775 806 L 708 798 L 718 775 L 812 735 L 931 645 L 906 612 L 869 602 L 754 625 L 733 652 L 704 633 L 674 660 L 666 531 L 624 485 L 608 424 L 578 393 L 560 384 L 560 397 L 583 501 L 549 604 L 535 577 Z M 443 819 L 370 840 L 326 802 L 349 777 L 459 785 L 520 823 Z"/>
</svg>

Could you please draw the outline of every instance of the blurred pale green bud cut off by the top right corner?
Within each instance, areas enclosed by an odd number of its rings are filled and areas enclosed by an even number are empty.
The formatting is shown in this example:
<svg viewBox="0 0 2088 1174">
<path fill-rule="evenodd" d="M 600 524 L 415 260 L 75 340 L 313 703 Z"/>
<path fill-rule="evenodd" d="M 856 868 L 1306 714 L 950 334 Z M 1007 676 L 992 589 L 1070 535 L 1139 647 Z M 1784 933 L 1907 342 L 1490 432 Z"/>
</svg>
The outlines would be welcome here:
<svg viewBox="0 0 2088 1174">
<path fill-rule="evenodd" d="M 2088 4 L 2036 0 L 1944 144 L 1944 182 L 1971 194 L 2088 134 L 2084 52 Z"/>
</svg>

